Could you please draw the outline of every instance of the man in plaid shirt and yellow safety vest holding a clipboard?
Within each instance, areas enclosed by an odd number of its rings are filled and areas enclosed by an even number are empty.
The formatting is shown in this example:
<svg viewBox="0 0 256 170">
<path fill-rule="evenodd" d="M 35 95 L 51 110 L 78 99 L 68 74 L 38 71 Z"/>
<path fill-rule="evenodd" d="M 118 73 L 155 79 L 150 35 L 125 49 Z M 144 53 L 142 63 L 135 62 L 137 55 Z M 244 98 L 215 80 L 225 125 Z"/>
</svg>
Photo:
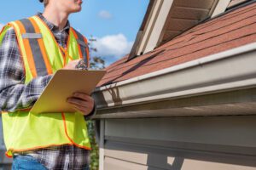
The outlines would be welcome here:
<svg viewBox="0 0 256 170">
<path fill-rule="evenodd" d="M 0 33 L 0 111 L 6 156 L 14 157 L 15 170 L 89 169 L 84 117 L 90 118 L 96 110 L 89 95 L 77 92 L 67 99 L 76 113 L 30 112 L 55 71 L 88 66 L 87 40 L 68 22 L 69 14 L 81 10 L 82 1 L 39 1 L 44 3 L 44 14 L 10 22 Z"/>
</svg>

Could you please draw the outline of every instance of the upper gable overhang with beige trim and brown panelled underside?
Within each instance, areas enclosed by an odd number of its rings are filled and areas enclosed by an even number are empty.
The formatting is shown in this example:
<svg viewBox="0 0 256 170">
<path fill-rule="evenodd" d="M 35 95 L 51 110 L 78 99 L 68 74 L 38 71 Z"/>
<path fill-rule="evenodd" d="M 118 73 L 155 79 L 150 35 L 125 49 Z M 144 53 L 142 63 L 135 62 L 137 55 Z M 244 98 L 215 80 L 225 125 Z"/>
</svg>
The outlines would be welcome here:
<svg viewBox="0 0 256 170">
<path fill-rule="evenodd" d="M 223 13 L 230 0 L 151 0 L 129 59 L 148 53 L 202 20 Z"/>
</svg>

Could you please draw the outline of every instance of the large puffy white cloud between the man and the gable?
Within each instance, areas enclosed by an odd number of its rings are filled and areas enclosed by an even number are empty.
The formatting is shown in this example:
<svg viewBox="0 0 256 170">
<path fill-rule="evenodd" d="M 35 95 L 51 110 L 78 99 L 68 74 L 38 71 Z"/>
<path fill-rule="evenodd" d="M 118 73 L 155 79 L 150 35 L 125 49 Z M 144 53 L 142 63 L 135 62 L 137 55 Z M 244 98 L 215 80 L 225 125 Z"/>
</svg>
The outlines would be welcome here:
<svg viewBox="0 0 256 170">
<path fill-rule="evenodd" d="M 124 34 L 108 35 L 105 37 L 96 37 L 96 42 L 92 42 L 94 48 L 97 48 L 95 53 L 98 56 L 105 57 L 111 60 L 119 59 L 120 57 L 129 54 L 133 42 L 129 42 Z"/>
</svg>

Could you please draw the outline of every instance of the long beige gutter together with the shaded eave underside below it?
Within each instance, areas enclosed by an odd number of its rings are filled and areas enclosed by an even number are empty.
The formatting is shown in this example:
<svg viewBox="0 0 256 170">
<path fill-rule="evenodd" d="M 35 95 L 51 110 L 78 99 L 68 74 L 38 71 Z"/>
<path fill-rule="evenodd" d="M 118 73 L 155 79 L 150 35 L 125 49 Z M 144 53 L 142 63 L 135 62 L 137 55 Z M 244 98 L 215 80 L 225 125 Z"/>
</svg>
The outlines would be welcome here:
<svg viewBox="0 0 256 170">
<path fill-rule="evenodd" d="M 255 55 L 253 42 L 96 88 L 95 118 L 255 114 Z"/>
</svg>

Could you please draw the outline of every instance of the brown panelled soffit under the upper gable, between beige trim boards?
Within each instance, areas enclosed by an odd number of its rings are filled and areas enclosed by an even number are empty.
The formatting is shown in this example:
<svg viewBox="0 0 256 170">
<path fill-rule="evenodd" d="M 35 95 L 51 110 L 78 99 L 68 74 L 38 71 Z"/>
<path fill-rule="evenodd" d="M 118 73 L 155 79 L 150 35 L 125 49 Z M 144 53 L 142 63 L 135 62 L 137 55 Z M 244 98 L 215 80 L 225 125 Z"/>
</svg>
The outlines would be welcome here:
<svg viewBox="0 0 256 170">
<path fill-rule="evenodd" d="M 172 4 L 158 45 L 211 16 L 218 0 L 177 0 Z"/>
</svg>

